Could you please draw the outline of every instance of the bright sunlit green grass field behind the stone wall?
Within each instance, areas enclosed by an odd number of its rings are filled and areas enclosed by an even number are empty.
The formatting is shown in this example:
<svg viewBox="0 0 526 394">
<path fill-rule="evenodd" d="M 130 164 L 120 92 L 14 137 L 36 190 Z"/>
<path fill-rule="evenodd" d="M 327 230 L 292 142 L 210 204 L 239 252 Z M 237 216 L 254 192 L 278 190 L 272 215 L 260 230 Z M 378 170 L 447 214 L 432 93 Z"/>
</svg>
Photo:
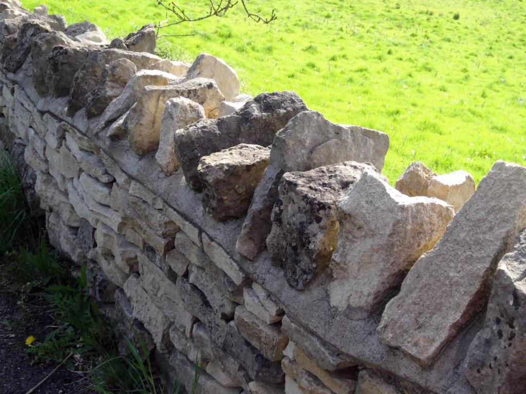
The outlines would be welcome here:
<svg viewBox="0 0 526 394">
<path fill-rule="evenodd" d="M 165 19 L 155 0 L 42 1 L 68 23 L 96 23 L 109 38 Z M 178 4 L 198 15 L 207 3 Z M 295 90 L 333 122 L 389 133 L 384 173 L 391 182 L 413 160 L 439 173 L 464 169 L 477 182 L 495 160 L 526 164 L 525 2 L 249 4 L 262 14 L 275 8 L 278 19 L 257 25 L 235 11 L 179 25 L 170 33 L 195 36 L 163 39 L 160 46 L 174 59 L 201 52 L 225 59 L 251 95 Z"/>
</svg>

